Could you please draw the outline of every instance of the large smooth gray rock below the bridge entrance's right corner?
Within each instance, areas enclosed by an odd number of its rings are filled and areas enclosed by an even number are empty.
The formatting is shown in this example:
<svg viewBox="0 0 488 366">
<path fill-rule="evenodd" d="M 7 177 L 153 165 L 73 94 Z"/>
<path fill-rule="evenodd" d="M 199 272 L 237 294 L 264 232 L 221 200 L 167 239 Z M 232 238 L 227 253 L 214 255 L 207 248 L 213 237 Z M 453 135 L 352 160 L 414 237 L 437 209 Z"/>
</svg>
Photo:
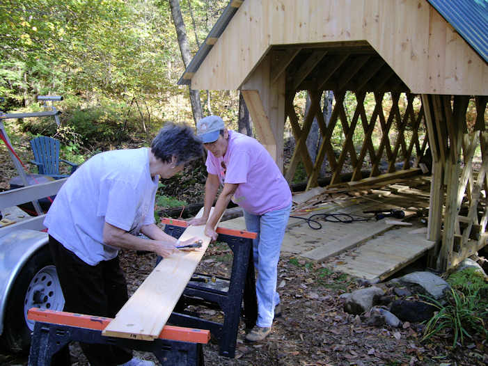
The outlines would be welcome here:
<svg viewBox="0 0 488 366">
<path fill-rule="evenodd" d="M 412 272 L 398 280 L 409 291 L 429 295 L 436 300 L 442 299 L 450 289 L 445 280 L 427 271 Z"/>
</svg>

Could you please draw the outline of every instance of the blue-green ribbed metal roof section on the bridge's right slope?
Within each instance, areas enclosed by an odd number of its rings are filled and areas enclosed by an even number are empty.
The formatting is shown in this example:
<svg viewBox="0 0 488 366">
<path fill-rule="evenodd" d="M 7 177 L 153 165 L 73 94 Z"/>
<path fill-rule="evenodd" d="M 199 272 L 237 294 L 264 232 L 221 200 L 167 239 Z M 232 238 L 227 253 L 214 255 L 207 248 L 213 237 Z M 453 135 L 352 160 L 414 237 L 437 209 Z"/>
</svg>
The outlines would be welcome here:
<svg viewBox="0 0 488 366">
<path fill-rule="evenodd" d="M 427 0 L 488 63 L 488 0 Z"/>
</svg>

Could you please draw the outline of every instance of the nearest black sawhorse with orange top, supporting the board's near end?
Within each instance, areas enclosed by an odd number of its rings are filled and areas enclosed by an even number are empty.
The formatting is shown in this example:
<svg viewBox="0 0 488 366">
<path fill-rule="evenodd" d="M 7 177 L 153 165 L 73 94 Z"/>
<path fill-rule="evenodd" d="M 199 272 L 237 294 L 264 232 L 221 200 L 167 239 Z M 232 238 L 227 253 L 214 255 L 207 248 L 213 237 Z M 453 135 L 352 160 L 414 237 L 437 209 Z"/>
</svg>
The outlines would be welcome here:
<svg viewBox="0 0 488 366">
<path fill-rule="evenodd" d="M 31 313 L 32 310 L 29 310 Z M 80 317 L 88 318 L 88 321 L 96 324 L 100 328 L 101 322 L 106 326 L 111 319 L 101 317 L 89 317 L 87 315 L 74 315 L 66 312 L 46 312 L 45 310 L 33 310 L 34 313 L 47 313 L 41 316 L 49 319 L 49 315 L 60 315 L 74 317 L 74 322 L 79 321 Z M 76 319 L 79 318 L 79 319 Z M 30 318 L 29 318 L 30 319 Z M 70 322 L 70 319 L 68 319 Z M 83 324 L 86 326 L 86 324 Z M 104 328 L 103 326 L 103 328 Z M 187 331 L 187 330 L 184 330 Z M 191 331 L 191 330 L 190 330 Z M 207 331 L 194 330 L 198 333 L 205 332 L 207 339 L 210 334 Z M 187 332 L 188 333 L 188 332 Z M 205 337 L 205 335 L 203 335 Z M 183 337 L 185 339 L 185 337 Z M 66 344 L 70 342 L 84 342 L 92 344 L 111 344 L 127 349 L 135 349 L 137 351 L 152 352 L 159 360 L 161 365 L 178 365 L 178 366 L 203 366 L 203 347 L 201 343 L 197 342 L 183 342 L 179 340 L 166 340 L 157 338 L 152 341 L 145 340 L 130 340 L 118 337 L 102 336 L 101 329 L 81 328 L 79 326 L 70 326 L 67 324 L 53 324 L 49 322 L 36 321 L 34 332 L 31 341 L 31 351 L 29 353 L 29 366 L 49 366 L 51 365 L 52 356 L 61 350 Z M 205 342 L 205 340 L 204 340 Z"/>
</svg>

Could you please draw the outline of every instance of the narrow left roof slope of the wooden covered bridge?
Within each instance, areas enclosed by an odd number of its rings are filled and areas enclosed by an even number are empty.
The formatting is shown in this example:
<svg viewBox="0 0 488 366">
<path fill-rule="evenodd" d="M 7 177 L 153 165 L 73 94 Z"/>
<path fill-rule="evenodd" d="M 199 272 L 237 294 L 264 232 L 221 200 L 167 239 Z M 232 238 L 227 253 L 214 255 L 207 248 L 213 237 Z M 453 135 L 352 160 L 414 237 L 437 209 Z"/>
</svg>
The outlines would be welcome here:
<svg viewBox="0 0 488 366">
<path fill-rule="evenodd" d="M 198 70 L 201 63 L 207 57 L 207 54 L 210 52 L 210 49 L 214 47 L 214 43 L 217 42 L 217 38 L 223 33 L 224 29 L 226 29 L 227 24 L 229 24 L 230 19 L 234 16 L 239 6 L 242 4 L 244 0 L 230 0 L 226 8 L 223 10 L 222 15 L 219 17 L 217 22 L 212 27 L 210 33 L 208 33 L 207 38 L 205 38 L 205 42 L 200 45 L 198 52 L 195 54 L 193 58 L 191 58 L 191 62 L 187 67 L 187 70 L 184 70 L 180 80 L 178 80 L 178 85 L 190 85 L 191 78 L 185 78 L 185 75 L 188 73 L 194 73 Z"/>
</svg>

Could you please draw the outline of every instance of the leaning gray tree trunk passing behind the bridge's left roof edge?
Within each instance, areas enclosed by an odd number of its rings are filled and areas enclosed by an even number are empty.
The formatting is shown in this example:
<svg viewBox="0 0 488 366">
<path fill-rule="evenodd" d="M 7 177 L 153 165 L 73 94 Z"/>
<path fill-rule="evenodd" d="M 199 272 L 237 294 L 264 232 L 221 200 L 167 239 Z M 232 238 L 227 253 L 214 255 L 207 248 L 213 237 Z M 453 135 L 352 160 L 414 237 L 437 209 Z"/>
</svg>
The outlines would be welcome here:
<svg viewBox="0 0 488 366">
<path fill-rule="evenodd" d="M 187 37 L 187 30 L 184 27 L 183 17 L 181 15 L 180 0 L 169 0 L 171 8 L 171 17 L 175 24 L 176 35 L 178 36 L 178 45 L 180 45 L 181 57 L 184 68 L 186 69 L 191 61 L 190 47 Z M 196 122 L 202 118 L 202 104 L 200 103 L 200 91 L 190 89 L 191 112 Z"/>
</svg>

